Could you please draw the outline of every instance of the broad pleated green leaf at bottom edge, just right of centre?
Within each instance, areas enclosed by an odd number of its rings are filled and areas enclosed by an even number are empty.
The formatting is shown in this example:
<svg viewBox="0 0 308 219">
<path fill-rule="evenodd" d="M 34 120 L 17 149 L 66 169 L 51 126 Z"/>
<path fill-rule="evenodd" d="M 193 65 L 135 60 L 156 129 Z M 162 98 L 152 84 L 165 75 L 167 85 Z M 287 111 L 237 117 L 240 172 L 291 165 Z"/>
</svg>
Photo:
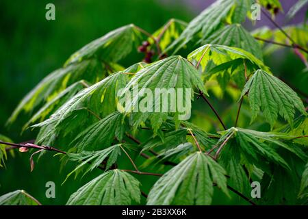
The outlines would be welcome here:
<svg viewBox="0 0 308 219">
<path fill-rule="evenodd" d="M 146 204 L 210 205 L 213 183 L 228 194 L 225 174 L 225 170 L 209 156 L 193 153 L 153 185 Z"/>
</svg>

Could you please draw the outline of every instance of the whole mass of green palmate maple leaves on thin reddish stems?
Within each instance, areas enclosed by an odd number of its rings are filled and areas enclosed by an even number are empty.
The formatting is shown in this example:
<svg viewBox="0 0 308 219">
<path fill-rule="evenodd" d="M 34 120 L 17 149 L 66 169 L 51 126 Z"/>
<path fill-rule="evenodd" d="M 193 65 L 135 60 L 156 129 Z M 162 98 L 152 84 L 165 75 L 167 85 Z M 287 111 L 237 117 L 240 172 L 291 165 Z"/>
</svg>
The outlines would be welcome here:
<svg viewBox="0 0 308 219">
<path fill-rule="evenodd" d="M 28 112 L 31 117 L 24 128 L 38 128 L 36 144 L 42 144 L 17 146 L 62 153 L 64 166 L 68 160 L 77 162 L 66 179 L 73 173 L 77 177 L 80 172 L 102 171 L 71 194 L 67 205 L 210 205 L 218 196 L 224 201 L 244 197 L 261 205 L 305 203 L 307 108 L 297 90 L 264 64 L 264 40 L 274 38 L 277 46 L 292 38 L 294 43 L 285 46 L 303 60 L 307 28 L 250 33 L 241 23 L 251 18 L 253 2 L 218 0 L 188 24 L 171 19 L 154 34 L 125 25 L 86 44 L 16 107 L 8 123 Z M 260 3 L 281 8 L 276 0 Z M 258 42 L 259 38 L 263 41 Z M 120 61 L 137 49 L 144 53 L 144 60 L 122 66 Z M 213 83 L 239 100 L 219 100 L 225 101 L 224 107 L 237 109 L 237 114 L 226 110 L 229 117 L 221 117 L 211 105 Z M 145 103 L 144 96 L 157 89 L 191 90 L 181 97 L 185 112 L 178 106 L 171 110 L 173 99 L 168 93 Z M 127 101 L 127 96 L 132 98 Z M 217 117 L 200 116 L 198 120 L 206 125 L 181 118 L 198 111 L 198 99 Z M 146 112 L 139 109 L 142 104 Z M 156 111 L 156 105 L 164 105 L 167 111 Z M 65 151 L 53 148 L 59 145 Z M 1 146 L 1 163 L 4 159 L 6 151 Z M 160 178 L 149 190 L 142 185 L 144 175 Z M 248 198 L 251 181 L 261 181 L 264 196 Z M 294 185 L 294 189 L 276 195 L 283 185 Z M 149 194 L 146 201 L 141 194 Z M 16 191 L 1 196 L 0 203 L 33 204 L 29 197 Z"/>
</svg>

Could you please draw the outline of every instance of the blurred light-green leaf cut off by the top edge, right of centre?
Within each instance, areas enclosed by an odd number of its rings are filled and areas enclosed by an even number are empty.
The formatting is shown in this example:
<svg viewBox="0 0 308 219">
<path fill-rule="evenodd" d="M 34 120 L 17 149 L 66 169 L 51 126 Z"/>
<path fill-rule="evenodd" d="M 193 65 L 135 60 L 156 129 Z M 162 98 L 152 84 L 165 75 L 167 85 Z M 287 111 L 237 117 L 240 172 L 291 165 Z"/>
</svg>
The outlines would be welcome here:
<svg viewBox="0 0 308 219">
<path fill-rule="evenodd" d="M 177 53 L 179 49 L 183 48 L 185 44 L 193 40 L 194 38 L 201 38 L 205 40 L 222 26 L 223 21 L 225 21 L 228 16 L 232 17 L 233 13 L 238 12 L 234 10 L 239 6 L 251 2 L 250 0 L 218 0 L 206 8 L 201 14 L 196 16 L 184 29 L 183 33 L 175 40 L 166 51 L 173 50 L 173 54 Z M 251 4 L 250 4 L 251 5 Z M 241 8 L 243 9 L 243 8 Z M 246 8 L 250 10 L 250 8 Z M 246 12 L 247 12 L 246 11 Z M 246 14 L 244 10 L 240 11 L 240 14 L 234 14 L 240 16 L 242 20 L 242 14 Z"/>
</svg>

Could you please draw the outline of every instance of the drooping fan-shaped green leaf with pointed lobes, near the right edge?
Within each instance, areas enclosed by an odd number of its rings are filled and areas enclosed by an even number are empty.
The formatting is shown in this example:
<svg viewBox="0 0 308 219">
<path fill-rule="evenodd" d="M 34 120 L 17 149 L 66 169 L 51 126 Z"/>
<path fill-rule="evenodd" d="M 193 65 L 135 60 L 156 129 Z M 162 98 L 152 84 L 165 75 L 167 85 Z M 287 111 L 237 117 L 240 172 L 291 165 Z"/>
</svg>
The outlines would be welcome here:
<svg viewBox="0 0 308 219">
<path fill-rule="evenodd" d="M 266 120 L 272 127 L 278 114 L 290 124 L 294 120 L 296 109 L 306 114 L 303 102 L 296 92 L 264 70 L 257 70 L 247 81 L 242 96 L 247 92 L 253 114 L 251 122 L 255 120 L 260 110 L 264 112 Z"/>
</svg>

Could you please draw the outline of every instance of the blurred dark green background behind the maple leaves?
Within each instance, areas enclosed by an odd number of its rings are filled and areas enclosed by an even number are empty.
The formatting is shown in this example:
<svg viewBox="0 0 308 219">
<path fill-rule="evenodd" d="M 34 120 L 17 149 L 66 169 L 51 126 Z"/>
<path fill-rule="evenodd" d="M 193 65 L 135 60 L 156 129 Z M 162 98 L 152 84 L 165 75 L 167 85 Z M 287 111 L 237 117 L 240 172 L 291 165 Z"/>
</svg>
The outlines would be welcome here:
<svg viewBox="0 0 308 219">
<path fill-rule="evenodd" d="M 21 101 L 23 96 L 51 71 L 64 64 L 70 54 L 88 42 L 103 36 L 108 31 L 128 23 L 154 32 L 170 18 L 179 18 L 189 22 L 213 1 L 201 0 L 70 0 L 70 1 L 0 1 L 0 133 L 12 138 L 14 142 L 32 140 L 36 131 L 25 131 L 26 115 L 20 116 L 12 127 L 5 122 Z M 55 21 L 45 19 L 45 5 L 55 4 Z M 295 1 L 282 1 L 285 12 Z M 304 12 L 298 13 L 291 23 L 304 20 Z M 278 22 L 287 25 L 283 14 Z M 257 23 L 271 24 L 262 18 Z M 254 29 L 247 23 L 248 29 Z M 305 66 L 290 49 L 283 49 L 264 60 L 272 70 L 293 86 L 307 92 L 307 80 L 300 79 L 296 72 Z M 129 66 L 131 63 L 127 63 Z M 213 101 L 219 108 L 226 107 L 219 101 Z M 203 114 L 207 114 L 203 108 Z M 209 111 L 208 111 L 209 112 Z M 211 112 L 209 112 L 211 114 Z M 198 124 L 202 126 L 201 124 Z M 72 170 L 70 164 L 62 170 Z M 29 171 L 29 153 L 9 155 L 6 168 L 0 169 L 0 195 L 17 189 L 24 189 L 47 205 L 65 204 L 70 194 L 87 181 L 69 179 L 61 186 L 65 174 L 59 175 L 60 162 L 52 154 L 44 155 Z M 94 170 L 93 175 L 97 175 Z M 60 176 L 60 177 L 59 177 Z M 89 179 L 87 177 L 87 179 Z M 46 198 L 45 183 L 54 181 L 56 198 Z M 149 179 L 151 181 L 151 179 Z M 150 183 L 151 184 L 151 183 Z"/>
</svg>

